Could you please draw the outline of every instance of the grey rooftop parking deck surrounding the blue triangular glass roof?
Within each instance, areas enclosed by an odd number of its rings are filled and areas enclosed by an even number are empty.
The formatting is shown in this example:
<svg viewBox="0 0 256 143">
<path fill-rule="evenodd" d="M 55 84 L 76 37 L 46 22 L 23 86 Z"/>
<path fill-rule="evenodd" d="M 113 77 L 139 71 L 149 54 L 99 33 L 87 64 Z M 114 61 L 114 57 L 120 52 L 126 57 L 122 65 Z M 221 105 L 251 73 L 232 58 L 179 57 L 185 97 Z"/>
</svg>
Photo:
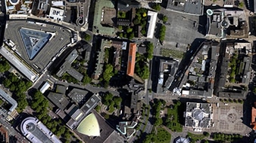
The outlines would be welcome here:
<svg viewBox="0 0 256 143">
<path fill-rule="evenodd" d="M 72 37 L 72 33 L 69 29 L 65 29 L 62 26 L 51 25 L 49 23 L 45 24 L 45 26 L 40 26 L 37 24 L 27 23 L 26 20 L 10 20 L 7 22 L 6 27 L 5 39 L 11 39 L 11 41 L 13 41 L 17 46 L 17 52 L 20 53 L 21 58 L 30 63 L 30 65 L 38 72 L 41 72 L 42 69 L 45 68 L 52 57 L 55 56 L 62 47 L 70 43 L 70 37 Z M 51 32 L 55 35 L 52 36 L 47 44 L 45 44 L 37 56 L 30 60 L 27 56 L 27 51 L 23 46 L 23 41 L 19 33 L 20 28 Z"/>
</svg>

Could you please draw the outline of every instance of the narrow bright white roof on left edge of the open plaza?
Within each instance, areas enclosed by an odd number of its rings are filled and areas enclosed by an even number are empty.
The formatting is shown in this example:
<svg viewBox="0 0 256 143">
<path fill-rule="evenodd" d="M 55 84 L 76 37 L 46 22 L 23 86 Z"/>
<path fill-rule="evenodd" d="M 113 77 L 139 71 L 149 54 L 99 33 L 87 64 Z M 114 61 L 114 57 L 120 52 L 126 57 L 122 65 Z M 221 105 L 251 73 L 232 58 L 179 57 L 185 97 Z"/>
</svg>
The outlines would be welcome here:
<svg viewBox="0 0 256 143">
<path fill-rule="evenodd" d="M 158 13 L 154 11 L 148 11 L 148 32 L 147 38 L 153 38 L 155 32 L 155 23 L 157 22 Z"/>
</svg>

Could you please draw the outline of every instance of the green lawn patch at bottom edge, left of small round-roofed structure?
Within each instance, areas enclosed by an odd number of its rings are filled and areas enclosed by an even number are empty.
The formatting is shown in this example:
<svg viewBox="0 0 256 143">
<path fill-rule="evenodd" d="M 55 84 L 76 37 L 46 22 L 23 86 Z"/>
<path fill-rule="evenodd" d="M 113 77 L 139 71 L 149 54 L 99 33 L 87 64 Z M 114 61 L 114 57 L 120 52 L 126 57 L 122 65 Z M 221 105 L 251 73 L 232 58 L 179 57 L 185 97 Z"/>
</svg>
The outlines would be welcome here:
<svg viewBox="0 0 256 143">
<path fill-rule="evenodd" d="M 155 143 L 170 143 L 170 133 L 163 128 L 158 128 Z"/>
</svg>

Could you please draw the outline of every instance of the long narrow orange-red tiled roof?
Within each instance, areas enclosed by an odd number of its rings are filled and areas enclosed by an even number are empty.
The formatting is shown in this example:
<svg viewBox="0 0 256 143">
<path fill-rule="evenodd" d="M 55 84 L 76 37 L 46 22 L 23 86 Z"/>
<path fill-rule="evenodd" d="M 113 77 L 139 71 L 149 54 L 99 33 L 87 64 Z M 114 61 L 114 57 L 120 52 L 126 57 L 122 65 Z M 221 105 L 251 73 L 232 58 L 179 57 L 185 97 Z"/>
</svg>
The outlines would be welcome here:
<svg viewBox="0 0 256 143">
<path fill-rule="evenodd" d="M 134 68 L 135 68 L 135 59 L 136 59 L 136 43 L 130 43 L 129 55 L 128 55 L 128 64 L 127 64 L 127 75 L 133 77 Z"/>
</svg>

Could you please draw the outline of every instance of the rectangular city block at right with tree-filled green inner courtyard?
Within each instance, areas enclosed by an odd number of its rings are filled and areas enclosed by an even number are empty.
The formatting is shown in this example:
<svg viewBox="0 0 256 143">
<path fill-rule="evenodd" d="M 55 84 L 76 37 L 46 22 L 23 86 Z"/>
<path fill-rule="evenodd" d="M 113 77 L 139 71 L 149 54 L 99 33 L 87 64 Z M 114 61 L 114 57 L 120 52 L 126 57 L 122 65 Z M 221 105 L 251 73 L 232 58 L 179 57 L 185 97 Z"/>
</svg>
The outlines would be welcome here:
<svg viewBox="0 0 256 143">
<path fill-rule="evenodd" d="M 214 95 L 245 99 L 251 78 L 251 44 L 244 40 L 226 40 L 221 45 Z"/>
</svg>

